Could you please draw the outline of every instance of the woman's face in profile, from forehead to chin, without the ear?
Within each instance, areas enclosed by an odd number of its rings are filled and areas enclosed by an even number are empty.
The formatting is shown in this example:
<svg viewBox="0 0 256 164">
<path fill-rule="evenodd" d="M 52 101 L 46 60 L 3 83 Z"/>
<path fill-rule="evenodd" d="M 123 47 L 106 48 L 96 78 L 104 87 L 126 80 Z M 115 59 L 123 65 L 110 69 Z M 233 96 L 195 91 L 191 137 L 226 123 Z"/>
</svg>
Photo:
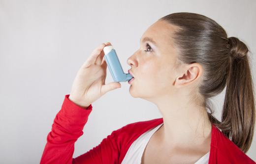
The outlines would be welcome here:
<svg viewBox="0 0 256 164">
<path fill-rule="evenodd" d="M 129 88 L 133 97 L 152 100 L 173 92 L 177 52 L 171 36 L 176 29 L 157 21 L 142 35 L 140 48 L 127 60 L 134 76 Z"/>
</svg>

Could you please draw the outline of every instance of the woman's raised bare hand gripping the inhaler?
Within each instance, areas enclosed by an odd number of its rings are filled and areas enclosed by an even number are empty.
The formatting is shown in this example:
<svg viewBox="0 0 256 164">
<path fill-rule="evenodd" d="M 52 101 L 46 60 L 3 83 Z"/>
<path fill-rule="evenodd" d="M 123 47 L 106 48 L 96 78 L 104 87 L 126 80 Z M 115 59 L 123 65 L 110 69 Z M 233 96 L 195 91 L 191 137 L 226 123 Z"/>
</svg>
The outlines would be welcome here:
<svg viewBox="0 0 256 164">
<path fill-rule="evenodd" d="M 96 47 L 78 70 L 68 97 L 75 104 L 87 108 L 103 94 L 121 87 L 119 82 L 105 84 L 107 63 L 103 48 L 109 45 L 107 42 Z"/>
</svg>

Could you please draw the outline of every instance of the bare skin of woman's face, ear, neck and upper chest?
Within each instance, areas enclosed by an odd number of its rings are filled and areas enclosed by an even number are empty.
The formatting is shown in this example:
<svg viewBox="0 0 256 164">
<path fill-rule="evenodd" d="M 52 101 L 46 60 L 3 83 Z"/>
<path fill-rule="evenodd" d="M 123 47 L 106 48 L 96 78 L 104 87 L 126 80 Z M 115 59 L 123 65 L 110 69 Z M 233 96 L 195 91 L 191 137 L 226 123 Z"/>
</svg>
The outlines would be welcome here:
<svg viewBox="0 0 256 164">
<path fill-rule="evenodd" d="M 163 125 L 144 150 L 142 164 L 193 164 L 210 151 L 211 122 L 195 99 L 203 68 L 198 63 L 176 68 L 179 49 L 171 36 L 178 29 L 165 21 L 152 24 L 127 60 L 134 76 L 129 93 L 154 103 L 163 117 Z M 145 37 L 157 45 L 143 42 Z"/>
</svg>

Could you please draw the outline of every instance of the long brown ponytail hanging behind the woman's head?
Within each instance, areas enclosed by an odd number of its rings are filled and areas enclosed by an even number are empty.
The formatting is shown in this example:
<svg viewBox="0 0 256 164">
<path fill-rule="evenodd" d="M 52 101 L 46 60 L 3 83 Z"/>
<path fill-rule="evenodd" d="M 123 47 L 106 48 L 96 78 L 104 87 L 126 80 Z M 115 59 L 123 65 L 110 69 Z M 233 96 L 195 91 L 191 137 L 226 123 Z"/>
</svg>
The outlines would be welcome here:
<svg viewBox="0 0 256 164">
<path fill-rule="evenodd" d="M 222 133 L 244 153 L 252 143 L 255 127 L 254 85 L 248 60 L 248 48 L 235 37 L 228 38 L 230 60 L 227 70 Z"/>
</svg>

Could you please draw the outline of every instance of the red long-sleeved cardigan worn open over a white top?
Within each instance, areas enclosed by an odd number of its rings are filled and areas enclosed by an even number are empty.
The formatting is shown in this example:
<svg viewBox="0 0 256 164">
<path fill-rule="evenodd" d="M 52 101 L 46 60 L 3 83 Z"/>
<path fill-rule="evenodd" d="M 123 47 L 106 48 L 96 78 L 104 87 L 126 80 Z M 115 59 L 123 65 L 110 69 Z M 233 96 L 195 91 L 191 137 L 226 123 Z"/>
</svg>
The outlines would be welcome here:
<svg viewBox="0 0 256 164">
<path fill-rule="evenodd" d="M 83 135 L 92 104 L 83 108 L 64 97 L 52 130 L 47 135 L 40 164 L 121 164 L 128 148 L 140 135 L 163 122 L 162 118 L 127 124 L 113 131 L 99 145 L 72 158 L 74 144 Z M 209 164 L 256 164 L 212 124 Z"/>
</svg>

